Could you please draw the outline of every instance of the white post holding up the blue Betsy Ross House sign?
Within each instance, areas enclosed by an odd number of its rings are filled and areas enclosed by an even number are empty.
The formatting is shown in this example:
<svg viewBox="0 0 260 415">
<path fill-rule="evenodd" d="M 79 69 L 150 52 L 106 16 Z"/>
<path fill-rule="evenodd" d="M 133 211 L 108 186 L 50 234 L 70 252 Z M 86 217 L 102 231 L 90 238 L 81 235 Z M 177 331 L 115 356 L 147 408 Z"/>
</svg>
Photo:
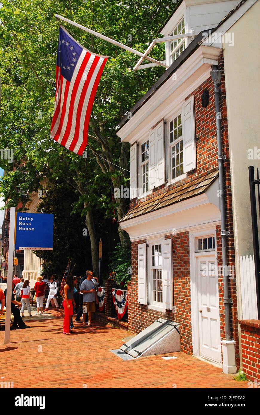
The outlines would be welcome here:
<svg viewBox="0 0 260 415">
<path fill-rule="evenodd" d="M 5 338 L 4 344 L 10 343 L 10 320 L 12 300 L 12 266 L 14 262 L 15 244 L 15 207 L 10 208 L 9 246 L 8 246 L 8 268 L 7 268 L 7 290 L 5 298 Z"/>
</svg>

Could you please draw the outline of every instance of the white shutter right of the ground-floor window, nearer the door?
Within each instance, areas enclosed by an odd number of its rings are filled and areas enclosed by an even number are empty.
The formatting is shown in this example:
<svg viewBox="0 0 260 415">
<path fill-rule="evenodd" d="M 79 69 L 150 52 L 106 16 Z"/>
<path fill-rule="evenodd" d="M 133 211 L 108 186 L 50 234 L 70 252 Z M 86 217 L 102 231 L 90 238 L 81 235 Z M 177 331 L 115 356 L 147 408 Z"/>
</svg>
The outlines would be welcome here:
<svg viewBox="0 0 260 415">
<path fill-rule="evenodd" d="M 162 243 L 162 300 L 165 310 L 172 310 L 172 239 Z"/>
</svg>

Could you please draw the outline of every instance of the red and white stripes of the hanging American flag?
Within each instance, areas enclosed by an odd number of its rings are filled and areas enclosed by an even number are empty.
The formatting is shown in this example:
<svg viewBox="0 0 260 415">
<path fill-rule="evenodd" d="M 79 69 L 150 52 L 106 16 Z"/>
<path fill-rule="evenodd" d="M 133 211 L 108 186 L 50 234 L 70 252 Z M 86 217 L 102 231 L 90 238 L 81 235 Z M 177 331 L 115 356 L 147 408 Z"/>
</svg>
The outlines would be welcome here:
<svg viewBox="0 0 260 415">
<path fill-rule="evenodd" d="M 71 81 L 56 67 L 56 99 L 51 137 L 82 156 L 88 144 L 88 125 L 98 84 L 107 57 L 83 49 Z"/>
</svg>

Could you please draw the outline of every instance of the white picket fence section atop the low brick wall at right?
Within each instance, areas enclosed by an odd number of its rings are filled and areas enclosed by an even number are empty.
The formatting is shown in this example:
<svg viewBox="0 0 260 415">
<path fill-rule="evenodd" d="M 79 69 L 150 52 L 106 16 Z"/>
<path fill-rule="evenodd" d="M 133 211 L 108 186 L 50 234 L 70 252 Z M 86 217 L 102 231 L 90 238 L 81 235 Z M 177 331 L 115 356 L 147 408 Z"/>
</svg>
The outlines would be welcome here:
<svg viewBox="0 0 260 415">
<path fill-rule="evenodd" d="M 255 262 L 254 256 L 240 256 L 240 282 L 242 297 L 242 318 L 258 319 L 255 287 Z"/>
</svg>

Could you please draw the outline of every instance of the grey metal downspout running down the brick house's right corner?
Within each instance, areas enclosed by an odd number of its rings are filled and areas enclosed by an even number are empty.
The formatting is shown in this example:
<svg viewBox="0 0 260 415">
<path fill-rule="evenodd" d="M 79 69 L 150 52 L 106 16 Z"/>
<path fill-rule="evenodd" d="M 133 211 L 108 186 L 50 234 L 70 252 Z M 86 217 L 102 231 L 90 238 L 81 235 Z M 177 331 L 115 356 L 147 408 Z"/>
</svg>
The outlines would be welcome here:
<svg viewBox="0 0 260 415">
<path fill-rule="evenodd" d="M 227 250 L 226 237 L 229 234 L 226 231 L 226 217 L 225 217 L 225 193 L 224 193 L 224 155 L 222 153 L 222 138 L 221 138 L 221 111 L 219 103 L 219 85 L 221 83 L 221 70 L 218 66 L 211 66 L 211 77 L 214 83 L 215 93 L 215 109 L 216 109 L 216 125 L 217 125 L 217 143 L 218 143 L 218 180 L 220 190 L 220 214 L 221 214 L 221 247 L 222 247 L 222 273 L 223 273 L 223 288 L 224 288 L 224 315 L 225 315 L 225 339 L 231 340 L 230 336 L 230 320 L 229 320 L 229 304 L 228 298 L 228 266 L 227 266 Z"/>
</svg>

